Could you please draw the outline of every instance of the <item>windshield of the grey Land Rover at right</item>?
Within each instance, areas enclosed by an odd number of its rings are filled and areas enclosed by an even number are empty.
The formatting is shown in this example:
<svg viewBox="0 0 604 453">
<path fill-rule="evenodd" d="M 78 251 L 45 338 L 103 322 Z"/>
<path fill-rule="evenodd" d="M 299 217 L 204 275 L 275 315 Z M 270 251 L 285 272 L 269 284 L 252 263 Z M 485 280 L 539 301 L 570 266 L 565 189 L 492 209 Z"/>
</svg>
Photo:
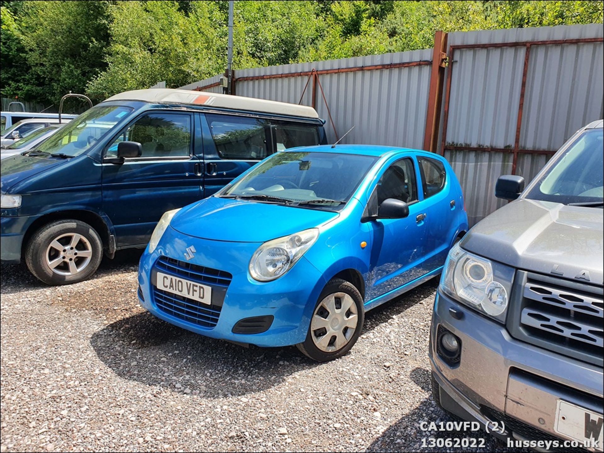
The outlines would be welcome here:
<svg viewBox="0 0 604 453">
<path fill-rule="evenodd" d="M 602 207 L 602 128 L 583 131 L 528 191 L 526 198 Z"/>
</svg>

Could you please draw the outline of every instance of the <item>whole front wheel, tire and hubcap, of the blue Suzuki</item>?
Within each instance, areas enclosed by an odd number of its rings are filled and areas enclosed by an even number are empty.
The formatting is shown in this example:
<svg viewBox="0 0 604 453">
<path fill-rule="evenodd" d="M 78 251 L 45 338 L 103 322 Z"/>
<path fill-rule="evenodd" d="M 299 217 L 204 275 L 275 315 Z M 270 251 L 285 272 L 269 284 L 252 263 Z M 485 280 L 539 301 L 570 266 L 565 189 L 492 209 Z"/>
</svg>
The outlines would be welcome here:
<svg viewBox="0 0 604 453">
<path fill-rule="evenodd" d="M 329 296 L 334 296 L 333 299 L 333 312 L 327 310 L 326 305 L 330 303 Z M 342 311 L 343 304 L 351 304 L 346 311 Z M 339 308 L 338 308 L 339 306 Z M 356 311 L 356 312 L 355 312 Z M 356 316 L 354 316 L 356 315 Z M 315 319 L 316 317 L 316 319 Z M 322 321 L 320 318 L 324 318 Z M 337 322 L 334 320 L 337 318 Z M 349 325 L 356 318 L 356 325 L 352 334 L 350 329 L 352 326 Z M 318 326 L 325 323 L 328 324 L 327 320 L 331 319 L 328 327 Z M 298 343 L 296 346 L 300 351 L 310 357 L 312 360 L 318 362 L 327 362 L 341 357 L 355 345 L 361 335 L 363 323 L 365 320 L 365 310 L 363 306 L 363 298 L 359 290 L 350 282 L 341 279 L 330 280 L 321 294 L 319 300 L 316 302 L 313 314 L 310 317 L 310 323 L 308 332 L 306 334 L 306 340 L 303 343 Z M 335 328 L 333 327 L 335 326 Z M 333 334 L 327 337 L 332 332 Z M 350 335 L 349 335 L 350 334 Z M 323 338 L 323 341 L 320 339 Z M 346 341 L 342 346 L 338 348 L 338 341 Z M 318 345 L 321 345 L 318 346 Z"/>
</svg>

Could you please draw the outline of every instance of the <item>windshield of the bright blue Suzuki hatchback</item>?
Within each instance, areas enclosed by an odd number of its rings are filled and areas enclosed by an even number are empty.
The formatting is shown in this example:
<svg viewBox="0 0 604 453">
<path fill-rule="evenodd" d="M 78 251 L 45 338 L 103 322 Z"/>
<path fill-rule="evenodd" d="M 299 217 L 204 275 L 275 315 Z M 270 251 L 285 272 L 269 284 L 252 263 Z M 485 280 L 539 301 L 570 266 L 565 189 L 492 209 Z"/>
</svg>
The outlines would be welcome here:
<svg viewBox="0 0 604 453">
<path fill-rule="evenodd" d="M 281 151 L 218 196 L 337 210 L 376 160 L 357 154 Z"/>
</svg>

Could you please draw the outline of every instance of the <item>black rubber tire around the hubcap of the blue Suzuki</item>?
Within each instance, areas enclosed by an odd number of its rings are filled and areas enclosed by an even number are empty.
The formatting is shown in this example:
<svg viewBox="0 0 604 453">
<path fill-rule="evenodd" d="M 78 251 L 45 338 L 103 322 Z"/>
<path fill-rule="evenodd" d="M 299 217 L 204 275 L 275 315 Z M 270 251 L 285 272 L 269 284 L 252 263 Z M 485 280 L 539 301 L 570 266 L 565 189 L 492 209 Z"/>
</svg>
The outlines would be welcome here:
<svg viewBox="0 0 604 453">
<path fill-rule="evenodd" d="M 355 331 L 353 332 L 352 337 L 350 337 L 350 339 L 348 340 L 348 343 L 341 347 L 341 349 L 330 352 L 321 350 L 319 347 L 316 346 L 315 340 L 313 340 L 314 333 L 311 329 L 312 318 L 315 315 L 316 310 L 320 307 L 321 302 L 323 302 L 323 300 L 330 294 L 336 293 L 345 294 L 352 298 L 356 309 L 357 323 Z M 342 279 L 329 280 L 329 282 L 327 282 L 327 285 L 325 285 L 325 288 L 323 288 L 323 291 L 321 291 L 319 299 L 317 300 L 313 308 L 312 314 L 310 315 L 310 322 L 308 326 L 308 331 L 306 333 L 306 340 L 304 340 L 303 343 L 296 344 L 296 347 L 300 350 L 300 352 L 302 352 L 304 355 L 311 358 L 312 360 L 316 360 L 318 362 L 327 362 L 330 360 L 334 360 L 349 352 L 349 350 L 355 345 L 356 340 L 358 340 L 359 336 L 361 335 L 364 320 L 365 309 L 363 305 L 363 298 L 361 296 L 361 293 L 359 293 L 359 290 L 355 287 L 355 285 Z"/>
</svg>

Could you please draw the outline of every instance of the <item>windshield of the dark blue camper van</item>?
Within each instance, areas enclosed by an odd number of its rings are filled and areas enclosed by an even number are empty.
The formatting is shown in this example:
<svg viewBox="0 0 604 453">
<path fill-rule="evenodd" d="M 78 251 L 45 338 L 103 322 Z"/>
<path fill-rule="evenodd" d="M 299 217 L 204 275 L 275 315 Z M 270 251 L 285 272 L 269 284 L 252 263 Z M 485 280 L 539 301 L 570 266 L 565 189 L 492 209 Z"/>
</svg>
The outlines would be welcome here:
<svg viewBox="0 0 604 453">
<path fill-rule="evenodd" d="M 67 156 L 82 154 L 133 110 L 123 106 L 92 107 L 42 142 L 36 151 Z"/>
</svg>

